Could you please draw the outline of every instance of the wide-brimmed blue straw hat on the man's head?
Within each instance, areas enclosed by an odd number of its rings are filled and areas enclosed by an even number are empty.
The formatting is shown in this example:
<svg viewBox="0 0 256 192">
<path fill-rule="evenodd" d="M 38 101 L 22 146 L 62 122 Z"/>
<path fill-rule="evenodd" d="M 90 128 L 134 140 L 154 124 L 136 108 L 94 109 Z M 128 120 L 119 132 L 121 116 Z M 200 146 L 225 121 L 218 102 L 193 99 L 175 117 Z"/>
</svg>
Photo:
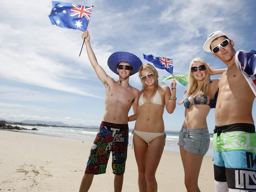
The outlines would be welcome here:
<svg viewBox="0 0 256 192">
<path fill-rule="evenodd" d="M 137 73 L 139 71 L 139 67 L 142 65 L 139 57 L 134 54 L 128 52 L 115 52 L 108 58 L 108 67 L 115 74 L 119 75 L 117 72 L 117 65 L 121 62 L 129 63 L 132 66 L 132 72 L 130 76 Z"/>
</svg>

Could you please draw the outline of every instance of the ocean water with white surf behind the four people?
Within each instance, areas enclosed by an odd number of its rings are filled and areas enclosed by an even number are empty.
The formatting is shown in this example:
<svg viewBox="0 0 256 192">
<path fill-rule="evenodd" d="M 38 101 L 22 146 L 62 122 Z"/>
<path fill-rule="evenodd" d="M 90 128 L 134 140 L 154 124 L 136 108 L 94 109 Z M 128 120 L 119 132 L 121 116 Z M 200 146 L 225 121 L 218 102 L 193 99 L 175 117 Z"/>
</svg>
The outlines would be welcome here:
<svg viewBox="0 0 256 192">
<path fill-rule="evenodd" d="M 27 129 L 37 128 L 38 131 L 27 131 L 27 130 L 15 130 L 22 133 L 45 135 L 51 137 L 62 137 L 62 138 L 72 138 L 77 140 L 87 140 L 93 142 L 96 134 L 98 133 L 97 128 L 76 128 L 76 127 L 43 127 L 43 126 L 23 126 L 17 125 L 19 127 L 24 127 Z M 179 140 L 178 131 L 165 131 L 166 141 L 165 141 L 165 151 L 179 152 L 179 146 L 177 145 Z M 132 129 L 129 129 L 129 146 L 132 146 Z M 213 135 L 210 135 L 210 147 L 206 156 L 213 156 L 212 147 Z"/>
</svg>

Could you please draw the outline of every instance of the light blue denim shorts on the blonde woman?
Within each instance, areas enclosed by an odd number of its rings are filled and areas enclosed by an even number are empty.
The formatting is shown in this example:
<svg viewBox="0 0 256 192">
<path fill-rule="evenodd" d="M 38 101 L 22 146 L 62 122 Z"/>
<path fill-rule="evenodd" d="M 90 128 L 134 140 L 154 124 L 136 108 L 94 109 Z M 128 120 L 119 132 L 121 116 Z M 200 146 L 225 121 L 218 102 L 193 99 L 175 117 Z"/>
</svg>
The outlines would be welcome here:
<svg viewBox="0 0 256 192">
<path fill-rule="evenodd" d="M 209 149 L 210 134 L 208 128 L 189 129 L 182 126 L 179 135 L 179 146 L 190 153 L 205 155 Z"/>
</svg>

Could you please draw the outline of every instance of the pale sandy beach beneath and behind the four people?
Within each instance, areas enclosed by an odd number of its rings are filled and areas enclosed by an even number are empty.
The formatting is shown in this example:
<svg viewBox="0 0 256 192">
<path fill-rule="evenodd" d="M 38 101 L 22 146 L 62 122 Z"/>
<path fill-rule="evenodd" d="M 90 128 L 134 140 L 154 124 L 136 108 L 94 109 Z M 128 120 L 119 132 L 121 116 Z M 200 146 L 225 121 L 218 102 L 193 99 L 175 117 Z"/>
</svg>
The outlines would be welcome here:
<svg viewBox="0 0 256 192">
<path fill-rule="evenodd" d="M 0 191 L 78 192 L 92 142 L 0 130 Z M 110 157 L 111 158 L 111 157 Z M 109 160 L 106 174 L 95 175 L 91 192 L 112 192 Z M 180 154 L 164 151 L 156 173 L 159 192 L 186 192 Z M 214 191 L 212 157 L 204 157 L 201 191 Z M 128 148 L 123 192 L 139 191 L 134 151 Z"/>
</svg>

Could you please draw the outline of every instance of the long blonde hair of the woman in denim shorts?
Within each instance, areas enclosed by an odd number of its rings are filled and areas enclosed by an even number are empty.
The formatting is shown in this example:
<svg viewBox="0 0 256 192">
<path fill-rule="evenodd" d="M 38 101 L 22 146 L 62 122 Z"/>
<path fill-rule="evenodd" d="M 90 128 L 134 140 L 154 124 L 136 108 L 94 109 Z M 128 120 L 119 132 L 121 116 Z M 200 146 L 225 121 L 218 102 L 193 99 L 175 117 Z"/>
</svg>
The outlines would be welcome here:
<svg viewBox="0 0 256 192">
<path fill-rule="evenodd" d="M 200 91 L 198 91 L 198 93 L 196 95 L 205 94 L 206 96 L 208 96 L 210 94 L 210 70 L 208 68 L 206 61 L 204 61 L 200 57 L 196 57 L 189 64 L 187 92 L 184 95 L 184 99 L 181 102 L 179 102 L 178 104 L 184 103 L 185 98 L 190 96 L 198 87 L 197 80 L 194 78 L 194 76 L 192 75 L 192 72 L 191 72 L 191 67 L 193 66 L 193 64 L 195 62 L 200 62 L 200 63 L 202 63 L 202 65 L 206 66 L 206 77 L 204 78 L 203 86 L 201 87 Z"/>
</svg>

